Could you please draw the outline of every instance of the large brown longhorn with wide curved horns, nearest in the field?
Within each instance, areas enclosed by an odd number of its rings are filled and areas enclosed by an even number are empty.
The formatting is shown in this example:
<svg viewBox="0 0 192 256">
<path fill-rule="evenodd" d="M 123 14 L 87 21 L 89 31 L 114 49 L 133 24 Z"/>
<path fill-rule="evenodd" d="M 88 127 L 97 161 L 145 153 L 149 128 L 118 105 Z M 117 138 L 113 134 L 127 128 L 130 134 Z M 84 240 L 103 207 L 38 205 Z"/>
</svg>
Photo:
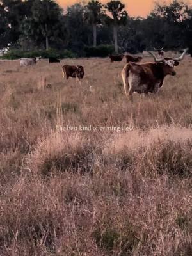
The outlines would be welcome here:
<svg viewBox="0 0 192 256">
<path fill-rule="evenodd" d="M 129 95 L 132 102 L 132 93 L 156 93 L 163 86 L 164 77 L 175 76 L 174 66 L 179 65 L 188 49 L 185 49 L 179 58 L 156 58 L 149 52 L 155 62 L 151 63 L 127 63 L 122 70 L 125 95 Z"/>
</svg>

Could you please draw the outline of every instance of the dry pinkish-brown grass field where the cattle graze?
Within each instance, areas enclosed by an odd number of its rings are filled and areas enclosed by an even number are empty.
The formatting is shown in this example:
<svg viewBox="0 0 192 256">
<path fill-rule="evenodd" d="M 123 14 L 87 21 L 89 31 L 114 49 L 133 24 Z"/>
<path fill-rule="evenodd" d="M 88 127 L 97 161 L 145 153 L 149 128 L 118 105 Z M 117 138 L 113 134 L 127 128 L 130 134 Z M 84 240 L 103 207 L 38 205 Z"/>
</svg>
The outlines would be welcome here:
<svg viewBox="0 0 192 256">
<path fill-rule="evenodd" d="M 0 62 L 0 255 L 192 255 L 192 59 L 134 104 L 125 60 L 61 63 Z"/>
</svg>

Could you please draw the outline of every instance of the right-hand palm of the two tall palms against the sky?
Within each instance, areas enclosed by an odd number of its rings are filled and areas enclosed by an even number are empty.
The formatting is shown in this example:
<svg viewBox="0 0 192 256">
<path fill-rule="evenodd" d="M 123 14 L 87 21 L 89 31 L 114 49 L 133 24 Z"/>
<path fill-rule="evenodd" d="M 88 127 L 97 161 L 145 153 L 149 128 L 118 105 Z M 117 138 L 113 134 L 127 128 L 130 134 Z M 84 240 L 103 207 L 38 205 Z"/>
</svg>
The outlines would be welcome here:
<svg viewBox="0 0 192 256">
<path fill-rule="evenodd" d="M 127 23 L 127 12 L 123 11 L 125 5 L 120 1 L 111 0 L 106 4 L 106 9 L 111 13 L 112 17 L 108 16 L 107 22 L 113 24 L 113 38 L 115 42 L 115 52 L 118 52 L 118 36 L 117 28 L 120 25 Z"/>
</svg>

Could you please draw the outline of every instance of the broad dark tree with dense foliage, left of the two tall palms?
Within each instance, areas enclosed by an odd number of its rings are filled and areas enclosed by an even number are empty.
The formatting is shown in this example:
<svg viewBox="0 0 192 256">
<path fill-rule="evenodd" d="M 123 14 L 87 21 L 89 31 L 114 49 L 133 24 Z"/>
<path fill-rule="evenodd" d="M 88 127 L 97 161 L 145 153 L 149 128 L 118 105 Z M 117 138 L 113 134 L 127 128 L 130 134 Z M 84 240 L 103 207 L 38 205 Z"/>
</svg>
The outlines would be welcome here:
<svg viewBox="0 0 192 256">
<path fill-rule="evenodd" d="M 60 6 L 53 0 L 35 0 L 31 7 L 31 17 L 22 22 L 22 32 L 40 44 L 45 40 L 45 48 L 49 42 L 64 36 L 63 16 Z"/>
</svg>

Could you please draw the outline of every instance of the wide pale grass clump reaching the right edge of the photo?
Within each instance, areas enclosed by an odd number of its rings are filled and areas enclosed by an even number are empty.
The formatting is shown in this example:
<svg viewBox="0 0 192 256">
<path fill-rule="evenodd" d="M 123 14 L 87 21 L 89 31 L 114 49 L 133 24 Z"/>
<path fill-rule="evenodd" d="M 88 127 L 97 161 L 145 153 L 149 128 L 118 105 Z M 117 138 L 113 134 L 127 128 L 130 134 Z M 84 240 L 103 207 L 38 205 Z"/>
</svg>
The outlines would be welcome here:
<svg viewBox="0 0 192 256">
<path fill-rule="evenodd" d="M 138 131 L 117 135 L 104 147 L 106 161 L 121 170 L 138 168 L 147 175 L 164 173 L 191 176 L 191 130 L 176 127 L 151 129 L 145 136 Z"/>
</svg>

